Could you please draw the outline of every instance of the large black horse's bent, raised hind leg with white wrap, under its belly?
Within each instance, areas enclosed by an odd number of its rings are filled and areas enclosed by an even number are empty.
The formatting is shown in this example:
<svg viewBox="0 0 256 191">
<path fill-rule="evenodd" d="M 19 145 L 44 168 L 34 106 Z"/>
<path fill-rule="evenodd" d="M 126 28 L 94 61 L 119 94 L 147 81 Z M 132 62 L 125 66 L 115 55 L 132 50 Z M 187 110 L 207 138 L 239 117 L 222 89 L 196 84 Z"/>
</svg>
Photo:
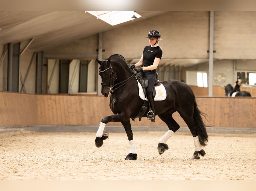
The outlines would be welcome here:
<svg viewBox="0 0 256 191">
<path fill-rule="evenodd" d="M 159 154 L 163 154 L 164 151 L 168 150 L 167 140 L 179 129 L 178 123 L 172 118 L 172 113 L 163 113 L 158 115 L 159 118 L 165 122 L 169 130 L 159 139 L 157 150 Z"/>
</svg>

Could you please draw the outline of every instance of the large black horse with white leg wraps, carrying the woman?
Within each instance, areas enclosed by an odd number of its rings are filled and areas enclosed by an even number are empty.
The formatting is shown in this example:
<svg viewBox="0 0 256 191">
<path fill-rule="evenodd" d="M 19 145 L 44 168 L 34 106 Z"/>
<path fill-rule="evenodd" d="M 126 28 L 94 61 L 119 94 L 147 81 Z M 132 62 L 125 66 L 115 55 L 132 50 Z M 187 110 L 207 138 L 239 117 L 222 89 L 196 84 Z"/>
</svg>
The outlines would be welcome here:
<svg viewBox="0 0 256 191">
<path fill-rule="evenodd" d="M 148 111 L 145 100 L 139 96 L 137 73 L 134 74 L 124 57 L 118 54 L 111 55 L 104 61 L 97 59 L 97 62 L 100 64 L 99 74 L 102 79 L 101 93 L 105 97 L 110 95 L 109 106 L 114 114 L 101 120 L 95 144 L 101 147 L 103 140 L 108 138 L 108 133 L 103 133 L 108 122 L 120 121 L 130 144 L 130 153 L 125 160 L 136 160 L 137 153 L 130 118 L 146 117 Z M 178 80 L 163 81 L 161 84 L 166 90 L 166 98 L 155 100 L 155 114 L 167 124 L 169 130 L 158 141 L 159 154 L 168 149 L 167 139 L 179 129 L 179 124 L 172 117 L 172 113 L 178 111 L 194 137 L 195 152 L 192 159 L 200 159 L 199 155 L 206 154 L 202 147 L 208 142 L 206 125 L 201 116 L 205 114 L 198 109 L 195 95 L 187 84 Z"/>
</svg>

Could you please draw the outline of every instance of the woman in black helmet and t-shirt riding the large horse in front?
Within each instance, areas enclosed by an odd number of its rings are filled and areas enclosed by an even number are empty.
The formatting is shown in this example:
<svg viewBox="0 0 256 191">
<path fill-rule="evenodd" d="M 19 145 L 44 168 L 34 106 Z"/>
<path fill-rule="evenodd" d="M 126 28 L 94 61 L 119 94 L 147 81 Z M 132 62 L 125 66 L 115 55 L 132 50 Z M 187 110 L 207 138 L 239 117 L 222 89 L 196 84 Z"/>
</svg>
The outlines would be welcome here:
<svg viewBox="0 0 256 191">
<path fill-rule="evenodd" d="M 151 30 L 147 36 L 149 46 L 145 46 L 140 60 L 136 64 L 131 64 L 131 70 L 136 68 L 137 73 L 141 73 L 144 78 L 148 80 L 147 98 L 149 100 L 150 109 L 147 114 L 147 119 L 155 122 L 155 104 L 153 88 L 156 80 L 156 68 L 162 57 L 162 50 L 159 47 L 159 40 L 161 38 L 160 32 Z M 142 66 L 142 67 L 141 67 Z M 139 68 L 137 68 L 139 67 Z"/>
</svg>

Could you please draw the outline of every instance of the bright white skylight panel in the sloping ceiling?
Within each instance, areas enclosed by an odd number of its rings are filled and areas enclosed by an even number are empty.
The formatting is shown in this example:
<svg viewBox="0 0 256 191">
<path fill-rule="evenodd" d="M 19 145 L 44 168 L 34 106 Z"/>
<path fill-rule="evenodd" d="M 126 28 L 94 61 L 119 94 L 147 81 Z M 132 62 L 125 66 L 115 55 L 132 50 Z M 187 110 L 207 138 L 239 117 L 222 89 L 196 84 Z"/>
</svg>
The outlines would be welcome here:
<svg viewBox="0 0 256 191">
<path fill-rule="evenodd" d="M 141 17 L 135 11 L 85 11 L 85 13 L 90 13 L 113 26 Z"/>
</svg>

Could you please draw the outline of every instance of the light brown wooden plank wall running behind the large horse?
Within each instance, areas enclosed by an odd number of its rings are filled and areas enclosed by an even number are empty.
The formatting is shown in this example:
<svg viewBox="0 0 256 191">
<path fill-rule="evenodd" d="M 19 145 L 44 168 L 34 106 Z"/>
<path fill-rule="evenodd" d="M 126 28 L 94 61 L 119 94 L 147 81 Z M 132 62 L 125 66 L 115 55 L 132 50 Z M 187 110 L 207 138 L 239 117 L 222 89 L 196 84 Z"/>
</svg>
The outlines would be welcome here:
<svg viewBox="0 0 256 191">
<path fill-rule="evenodd" d="M 199 109 L 208 114 L 207 126 L 256 127 L 256 97 L 197 96 Z M 32 125 L 99 125 L 104 116 L 111 115 L 109 98 L 97 95 L 32 95 L 0 92 L 0 126 Z M 186 126 L 177 112 L 173 117 Z M 158 117 L 156 122 L 143 118 L 131 120 L 133 126 L 166 126 Z M 108 125 L 121 125 L 111 122 Z"/>
</svg>

